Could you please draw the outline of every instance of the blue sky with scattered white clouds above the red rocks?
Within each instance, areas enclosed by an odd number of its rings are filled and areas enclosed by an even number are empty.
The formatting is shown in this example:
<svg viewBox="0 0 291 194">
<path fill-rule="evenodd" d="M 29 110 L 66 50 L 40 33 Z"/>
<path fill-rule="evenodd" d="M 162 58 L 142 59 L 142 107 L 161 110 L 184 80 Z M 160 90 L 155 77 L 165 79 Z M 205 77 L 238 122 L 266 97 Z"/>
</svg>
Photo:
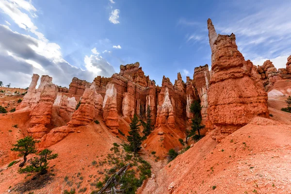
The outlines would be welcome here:
<svg viewBox="0 0 291 194">
<path fill-rule="evenodd" d="M 0 0 L 0 81 L 28 87 L 33 73 L 67 86 L 140 62 L 161 85 L 210 64 L 207 19 L 235 33 L 254 65 L 291 55 L 290 0 Z"/>
</svg>

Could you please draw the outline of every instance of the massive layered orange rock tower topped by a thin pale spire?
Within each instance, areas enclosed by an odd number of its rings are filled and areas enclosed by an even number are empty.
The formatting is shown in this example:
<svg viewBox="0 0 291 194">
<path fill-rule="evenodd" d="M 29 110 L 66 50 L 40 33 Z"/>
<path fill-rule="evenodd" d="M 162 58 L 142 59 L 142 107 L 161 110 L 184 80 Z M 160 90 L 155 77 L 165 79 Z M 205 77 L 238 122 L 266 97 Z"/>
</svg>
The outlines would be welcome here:
<svg viewBox="0 0 291 194">
<path fill-rule="evenodd" d="M 254 65 L 237 49 L 235 35 L 218 35 L 208 20 L 211 72 L 208 90 L 208 127 L 214 138 L 246 125 L 253 117 L 269 117 L 267 93 L 258 81 Z"/>
</svg>

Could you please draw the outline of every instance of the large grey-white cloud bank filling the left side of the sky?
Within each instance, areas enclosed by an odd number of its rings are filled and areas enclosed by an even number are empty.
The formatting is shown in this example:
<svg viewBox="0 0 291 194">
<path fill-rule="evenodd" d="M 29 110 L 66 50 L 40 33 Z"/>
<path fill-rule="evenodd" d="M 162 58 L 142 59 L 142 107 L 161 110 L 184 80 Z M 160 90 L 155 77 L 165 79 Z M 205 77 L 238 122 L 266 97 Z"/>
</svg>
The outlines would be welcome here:
<svg viewBox="0 0 291 194">
<path fill-rule="evenodd" d="M 96 48 L 91 50 L 95 55 L 85 57 L 85 70 L 66 62 L 61 47 L 37 31 L 31 20 L 31 17 L 37 17 L 34 13 L 37 10 L 31 0 L 0 0 L 0 11 L 10 16 L 20 28 L 36 35 L 32 37 L 0 25 L 1 81 L 11 82 L 15 87 L 27 87 L 32 74 L 37 73 L 53 77 L 53 82 L 58 85 L 68 85 L 73 77 L 93 81 L 98 75 L 110 77 L 115 73 L 113 66 L 99 56 Z"/>
</svg>

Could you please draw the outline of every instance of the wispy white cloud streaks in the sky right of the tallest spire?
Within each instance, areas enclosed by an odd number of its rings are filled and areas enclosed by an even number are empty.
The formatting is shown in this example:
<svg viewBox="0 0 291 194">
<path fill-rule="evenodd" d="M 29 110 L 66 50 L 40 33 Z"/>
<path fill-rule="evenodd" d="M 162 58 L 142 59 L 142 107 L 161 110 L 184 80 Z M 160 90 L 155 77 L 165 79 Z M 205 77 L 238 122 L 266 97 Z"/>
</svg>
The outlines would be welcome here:
<svg viewBox="0 0 291 194">
<path fill-rule="evenodd" d="M 273 59 L 274 65 L 282 68 L 291 54 L 291 12 L 287 7 L 291 1 L 266 1 L 263 6 L 254 3 L 252 10 L 228 16 L 227 22 L 214 21 L 214 25 L 218 33 L 235 33 L 239 50 L 255 65 Z"/>
</svg>

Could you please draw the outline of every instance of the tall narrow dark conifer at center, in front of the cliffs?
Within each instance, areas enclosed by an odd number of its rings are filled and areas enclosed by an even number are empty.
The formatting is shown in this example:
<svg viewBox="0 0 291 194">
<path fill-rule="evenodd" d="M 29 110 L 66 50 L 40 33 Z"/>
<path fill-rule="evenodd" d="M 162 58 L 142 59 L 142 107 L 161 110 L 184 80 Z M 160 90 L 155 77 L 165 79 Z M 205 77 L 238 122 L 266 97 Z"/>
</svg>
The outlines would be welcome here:
<svg viewBox="0 0 291 194">
<path fill-rule="evenodd" d="M 136 156 L 137 152 L 142 148 L 142 137 L 139 134 L 139 126 L 138 124 L 138 118 L 136 114 L 134 114 L 133 119 L 131 123 L 129 124 L 130 130 L 129 130 L 129 136 L 127 136 L 127 139 L 129 141 L 130 149 L 134 154 L 134 157 Z"/>
</svg>

